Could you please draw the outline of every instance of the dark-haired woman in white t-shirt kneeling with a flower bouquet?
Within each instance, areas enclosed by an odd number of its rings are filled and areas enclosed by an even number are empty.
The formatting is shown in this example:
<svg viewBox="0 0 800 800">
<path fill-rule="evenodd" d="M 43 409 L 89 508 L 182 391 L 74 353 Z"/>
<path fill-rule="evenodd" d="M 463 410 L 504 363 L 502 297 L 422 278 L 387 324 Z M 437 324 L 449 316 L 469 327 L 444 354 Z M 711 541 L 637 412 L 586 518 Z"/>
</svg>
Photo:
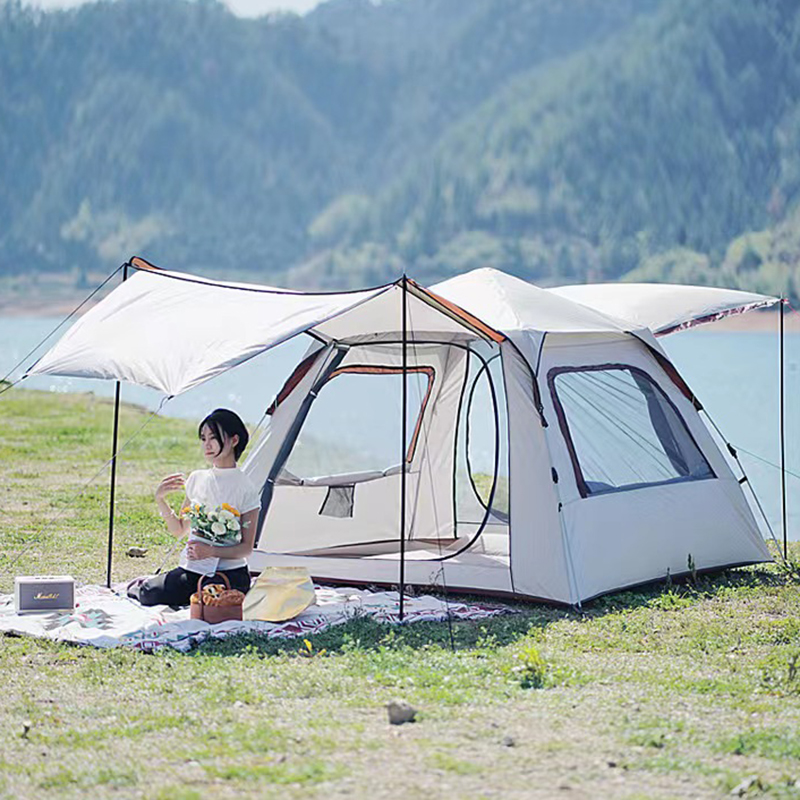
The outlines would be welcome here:
<svg viewBox="0 0 800 800">
<path fill-rule="evenodd" d="M 236 466 L 247 446 L 247 429 L 238 414 L 218 408 L 200 423 L 197 433 L 210 468 L 192 472 L 185 480 L 180 473 L 168 475 L 156 489 L 156 505 L 169 532 L 177 538 L 188 535 L 189 539 L 178 567 L 129 588 L 128 594 L 145 606 L 188 605 L 200 577 L 215 572 L 226 575 L 232 589 L 247 592 L 250 588 L 247 556 L 253 551 L 261 502 L 258 490 Z M 194 534 L 189 520 L 175 514 L 166 500 L 170 492 L 181 489 L 186 492 L 181 508 L 200 504 L 207 509 L 236 509 L 241 515 L 241 542 L 212 545 Z"/>
</svg>

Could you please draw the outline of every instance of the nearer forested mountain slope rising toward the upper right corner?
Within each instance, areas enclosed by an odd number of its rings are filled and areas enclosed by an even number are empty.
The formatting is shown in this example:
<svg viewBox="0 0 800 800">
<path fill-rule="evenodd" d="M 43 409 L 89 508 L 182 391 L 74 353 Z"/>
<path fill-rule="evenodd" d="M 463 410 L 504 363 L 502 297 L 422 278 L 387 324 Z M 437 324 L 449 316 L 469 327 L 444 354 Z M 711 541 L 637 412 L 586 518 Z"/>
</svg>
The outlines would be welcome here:
<svg viewBox="0 0 800 800">
<path fill-rule="evenodd" d="M 344 235 L 297 272 L 364 264 L 374 280 L 366 265 L 380 255 L 387 275 L 405 263 L 421 280 L 475 266 L 544 283 L 641 268 L 672 279 L 700 258 L 696 281 L 719 280 L 727 261 L 733 283 L 796 293 L 796 255 L 738 274 L 727 251 L 792 227 L 798 41 L 796 3 L 665 4 L 516 76 L 339 220 Z"/>
</svg>

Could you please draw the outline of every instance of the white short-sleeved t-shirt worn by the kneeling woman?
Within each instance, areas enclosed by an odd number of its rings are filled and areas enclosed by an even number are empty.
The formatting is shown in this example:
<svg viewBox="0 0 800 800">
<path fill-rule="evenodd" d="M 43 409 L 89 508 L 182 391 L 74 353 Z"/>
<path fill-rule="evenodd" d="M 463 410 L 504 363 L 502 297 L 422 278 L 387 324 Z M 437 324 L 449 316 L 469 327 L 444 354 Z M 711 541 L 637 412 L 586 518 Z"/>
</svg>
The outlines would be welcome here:
<svg viewBox="0 0 800 800">
<path fill-rule="evenodd" d="M 238 467 L 229 469 L 211 467 L 192 472 L 186 479 L 186 500 L 190 504 L 201 503 L 209 509 L 219 508 L 223 503 L 227 503 L 242 515 L 261 507 L 261 495 L 258 489 Z M 205 540 L 190 533 L 188 541 Z M 213 575 L 219 569 L 245 567 L 247 559 L 203 558 L 199 561 L 191 561 L 186 553 L 186 547 L 184 547 L 179 565 L 200 575 Z"/>
</svg>

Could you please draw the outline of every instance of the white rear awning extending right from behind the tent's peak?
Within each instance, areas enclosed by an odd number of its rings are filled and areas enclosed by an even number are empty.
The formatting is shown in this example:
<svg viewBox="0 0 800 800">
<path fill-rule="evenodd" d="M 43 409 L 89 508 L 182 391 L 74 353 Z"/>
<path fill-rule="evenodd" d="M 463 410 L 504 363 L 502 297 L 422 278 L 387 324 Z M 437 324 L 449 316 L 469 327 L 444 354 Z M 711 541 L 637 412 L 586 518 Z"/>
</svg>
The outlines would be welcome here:
<svg viewBox="0 0 800 800">
<path fill-rule="evenodd" d="M 780 302 L 752 292 L 666 283 L 594 283 L 559 286 L 550 292 L 659 336 Z"/>
</svg>

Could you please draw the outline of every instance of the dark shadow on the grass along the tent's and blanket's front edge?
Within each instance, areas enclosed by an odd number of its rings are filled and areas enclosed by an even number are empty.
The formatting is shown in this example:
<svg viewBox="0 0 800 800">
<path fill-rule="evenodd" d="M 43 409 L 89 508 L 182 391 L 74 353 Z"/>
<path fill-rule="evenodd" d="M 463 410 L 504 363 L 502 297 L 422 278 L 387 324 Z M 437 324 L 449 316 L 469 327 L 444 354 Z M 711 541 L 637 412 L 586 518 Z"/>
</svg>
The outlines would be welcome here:
<svg viewBox="0 0 800 800">
<path fill-rule="evenodd" d="M 731 591 L 757 590 L 797 582 L 797 576 L 777 565 L 741 567 L 710 573 L 687 575 L 672 581 L 659 581 L 635 589 L 605 595 L 583 605 L 581 609 L 548 603 L 507 601 L 502 605 L 510 613 L 479 621 L 415 622 L 410 625 L 380 623 L 371 617 L 357 617 L 309 637 L 315 654 L 336 654 L 353 650 L 376 648 L 442 648 L 470 651 L 485 647 L 514 644 L 537 630 L 561 620 L 589 621 L 610 614 L 632 612 L 646 607 L 692 606 Z M 445 598 L 440 591 L 428 591 Z M 480 603 L 486 598 L 474 595 L 450 595 L 451 602 Z M 281 653 L 297 655 L 303 646 L 302 638 L 266 639 L 257 634 L 241 634 L 227 639 L 210 640 L 192 651 L 191 655 L 233 656 L 257 653 L 274 656 Z"/>
</svg>

